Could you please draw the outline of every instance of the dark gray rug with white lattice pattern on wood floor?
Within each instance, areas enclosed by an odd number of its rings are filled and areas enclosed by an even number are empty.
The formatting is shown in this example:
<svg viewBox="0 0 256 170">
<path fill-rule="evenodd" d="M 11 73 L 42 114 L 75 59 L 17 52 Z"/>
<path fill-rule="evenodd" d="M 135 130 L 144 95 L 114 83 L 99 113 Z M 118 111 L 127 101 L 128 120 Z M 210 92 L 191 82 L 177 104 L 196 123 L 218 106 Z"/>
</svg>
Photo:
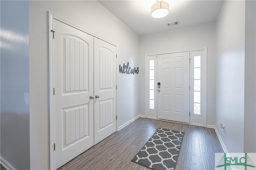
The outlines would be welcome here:
<svg viewBox="0 0 256 170">
<path fill-rule="evenodd" d="M 132 162 L 152 170 L 174 170 L 184 132 L 158 128 Z"/>
</svg>

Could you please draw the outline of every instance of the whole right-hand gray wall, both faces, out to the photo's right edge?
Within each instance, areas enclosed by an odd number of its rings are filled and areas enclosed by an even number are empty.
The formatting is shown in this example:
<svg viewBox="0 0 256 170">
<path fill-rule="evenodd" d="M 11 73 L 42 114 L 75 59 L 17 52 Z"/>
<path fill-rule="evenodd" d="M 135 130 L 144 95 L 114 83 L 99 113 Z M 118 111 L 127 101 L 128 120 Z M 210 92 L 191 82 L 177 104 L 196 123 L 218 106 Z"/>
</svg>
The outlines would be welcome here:
<svg viewBox="0 0 256 170">
<path fill-rule="evenodd" d="M 224 1 L 216 23 L 216 127 L 226 151 L 256 152 L 256 2 Z"/>
</svg>

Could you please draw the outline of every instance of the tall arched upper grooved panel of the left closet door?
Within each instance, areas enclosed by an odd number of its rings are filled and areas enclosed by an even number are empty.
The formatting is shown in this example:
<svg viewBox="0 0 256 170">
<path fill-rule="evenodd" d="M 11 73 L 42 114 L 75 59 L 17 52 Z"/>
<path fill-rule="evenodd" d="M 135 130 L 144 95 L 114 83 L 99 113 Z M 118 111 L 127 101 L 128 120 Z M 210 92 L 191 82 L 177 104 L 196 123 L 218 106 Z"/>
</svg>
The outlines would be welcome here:
<svg viewBox="0 0 256 170">
<path fill-rule="evenodd" d="M 74 35 L 62 35 L 64 45 L 64 93 L 88 89 L 88 43 Z M 73 55 L 72 55 L 73 54 Z"/>
</svg>

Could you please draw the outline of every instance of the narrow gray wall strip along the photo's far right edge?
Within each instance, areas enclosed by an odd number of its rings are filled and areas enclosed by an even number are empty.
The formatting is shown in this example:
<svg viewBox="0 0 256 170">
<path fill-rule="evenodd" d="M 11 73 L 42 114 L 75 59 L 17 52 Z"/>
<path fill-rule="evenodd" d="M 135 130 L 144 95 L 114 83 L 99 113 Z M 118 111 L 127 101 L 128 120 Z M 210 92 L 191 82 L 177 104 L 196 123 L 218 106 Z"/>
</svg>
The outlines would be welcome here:
<svg viewBox="0 0 256 170">
<path fill-rule="evenodd" d="M 245 2 L 244 152 L 256 152 L 256 1 Z"/>
</svg>

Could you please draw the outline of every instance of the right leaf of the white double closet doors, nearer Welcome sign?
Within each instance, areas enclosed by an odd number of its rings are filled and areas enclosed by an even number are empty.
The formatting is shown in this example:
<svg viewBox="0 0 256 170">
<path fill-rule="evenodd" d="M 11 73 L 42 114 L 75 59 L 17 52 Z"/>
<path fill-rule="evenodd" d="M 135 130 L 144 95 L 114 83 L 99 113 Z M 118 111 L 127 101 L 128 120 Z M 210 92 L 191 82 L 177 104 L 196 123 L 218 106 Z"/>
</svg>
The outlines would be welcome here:
<svg viewBox="0 0 256 170">
<path fill-rule="evenodd" d="M 94 145 L 116 132 L 116 47 L 94 38 Z"/>
</svg>

